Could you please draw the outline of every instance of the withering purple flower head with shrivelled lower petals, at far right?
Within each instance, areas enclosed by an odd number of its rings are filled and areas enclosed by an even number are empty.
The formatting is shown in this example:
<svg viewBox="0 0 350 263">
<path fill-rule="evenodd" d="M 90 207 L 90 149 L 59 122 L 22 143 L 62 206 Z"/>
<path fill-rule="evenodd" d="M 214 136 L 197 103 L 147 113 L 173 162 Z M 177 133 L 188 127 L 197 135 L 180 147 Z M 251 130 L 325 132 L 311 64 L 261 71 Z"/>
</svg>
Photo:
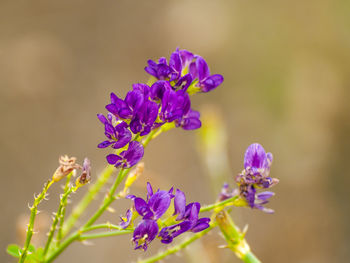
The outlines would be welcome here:
<svg viewBox="0 0 350 263">
<path fill-rule="evenodd" d="M 278 183 L 278 179 L 270 177 L 272 154 L 266 153 L 264 148 L 254 143 L 248 147 L 244 156 L 244 170 L 237 175 L 239 195 L 251 208 L 260 209 L 266 213 L 273 213 L 272 209 L 264 207 L 273 192 L 258 193 L 257 189 L 266 189 Z"/>
</svg>

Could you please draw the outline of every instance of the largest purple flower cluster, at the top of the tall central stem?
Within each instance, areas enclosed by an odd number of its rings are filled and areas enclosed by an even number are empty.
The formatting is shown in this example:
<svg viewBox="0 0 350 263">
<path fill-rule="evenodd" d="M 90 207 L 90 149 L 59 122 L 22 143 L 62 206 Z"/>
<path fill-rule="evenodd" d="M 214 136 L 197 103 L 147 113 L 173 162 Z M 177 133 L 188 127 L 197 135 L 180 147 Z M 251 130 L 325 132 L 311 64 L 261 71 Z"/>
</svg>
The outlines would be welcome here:
<svg viewBox="0 0 350 263">
<path fill-rule="evenodd" d="M 98 147 L 123 150 L 107 156 L 116 167 L 130 168 L 140 161 L 144 150 L 139 138 L 164 124 L 184 130 L 200 128 L 200 113 L 191 108 L 189 95 L 211 91 L 223 82 L 221 75 L 210 74 L 202 57 L 187 50 L 177 49 L 169 63 L 166 58 L 158 63 L 149 60 L 145 70 L 154 77 L 152 85 L 133 84 L 124 99 L 111 93 L 107 117 L 98 114 L 107 137 Z"/>
</svg>

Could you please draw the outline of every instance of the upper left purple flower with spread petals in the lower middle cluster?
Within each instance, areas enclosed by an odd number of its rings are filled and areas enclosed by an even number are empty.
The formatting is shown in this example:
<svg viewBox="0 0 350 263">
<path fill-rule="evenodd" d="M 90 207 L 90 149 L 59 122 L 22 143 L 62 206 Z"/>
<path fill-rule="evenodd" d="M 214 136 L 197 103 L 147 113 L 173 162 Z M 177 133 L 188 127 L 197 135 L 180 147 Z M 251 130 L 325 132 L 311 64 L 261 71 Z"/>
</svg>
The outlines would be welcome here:
<svg viewBox="0 0 350 263">
<path fill-rule="evenodd" d="M 135 210 L 143 217 L 143 219 L 157 220 L 168 210 L 171 199 L 173 198 L 173 190 L 158 190 L 153 194 L 151 184 L 147 183 L 147 191 L 147 201 L 140 197 L 134 198 Z"/>
</svg>

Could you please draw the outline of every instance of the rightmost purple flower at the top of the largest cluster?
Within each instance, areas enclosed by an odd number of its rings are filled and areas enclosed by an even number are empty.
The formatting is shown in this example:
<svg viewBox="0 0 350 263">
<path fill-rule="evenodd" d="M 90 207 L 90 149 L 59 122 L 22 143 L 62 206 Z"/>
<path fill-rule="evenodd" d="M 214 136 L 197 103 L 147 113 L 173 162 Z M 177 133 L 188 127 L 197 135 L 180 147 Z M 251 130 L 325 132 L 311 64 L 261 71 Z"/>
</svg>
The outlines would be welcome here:
<svg viewBox="0 0 350 263">
<path fill-rule="evenodd" d="M 196 61 L 190 64 L 190 73 L 194 79 L 198 79 L 197 86 L 202 92 L 209 92 L 224 81 L 220 74 L 210 75 L 207 62 L 200 56 L 196 56 Z"/>
</svg>

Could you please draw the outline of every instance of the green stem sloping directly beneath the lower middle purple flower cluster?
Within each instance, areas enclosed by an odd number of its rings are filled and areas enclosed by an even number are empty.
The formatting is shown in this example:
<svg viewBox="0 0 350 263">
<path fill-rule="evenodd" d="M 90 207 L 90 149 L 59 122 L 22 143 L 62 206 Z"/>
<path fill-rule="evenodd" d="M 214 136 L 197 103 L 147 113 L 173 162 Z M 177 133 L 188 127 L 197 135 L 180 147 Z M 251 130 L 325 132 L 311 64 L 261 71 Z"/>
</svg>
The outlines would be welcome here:
<svg viewBox="0 0 350 263">
<path fill-rule="evenodd" d="M 196 241 L 197 239 L 201 238 L 202 236 L 204 236 L 205 234 L 207 234 L 210 230 L 212 230 L 214 227 L 216 226 L 216 223 L 211 224 L 207 229 L 194 234 L 193 236 L 191 236 L 190 238 L 186 239 L 185 241 L 181 242 L 180 244 L 173 246 L 167 250 L 165 250 L 164 252 L 160 252 L 157 255 L 153 256 L 153 257 L 149 257 L 147 259 L 144 260 L 139 260 L 138 263 L 152 263 L 152 262 L 157 262 L 171 254 L 174 254 L 178 251 L 180 251 L 181 249 L 187 247 L 188 245 L 190 245 L 191 243 L 193 243 L 194 241 Z"/>
</svg>

